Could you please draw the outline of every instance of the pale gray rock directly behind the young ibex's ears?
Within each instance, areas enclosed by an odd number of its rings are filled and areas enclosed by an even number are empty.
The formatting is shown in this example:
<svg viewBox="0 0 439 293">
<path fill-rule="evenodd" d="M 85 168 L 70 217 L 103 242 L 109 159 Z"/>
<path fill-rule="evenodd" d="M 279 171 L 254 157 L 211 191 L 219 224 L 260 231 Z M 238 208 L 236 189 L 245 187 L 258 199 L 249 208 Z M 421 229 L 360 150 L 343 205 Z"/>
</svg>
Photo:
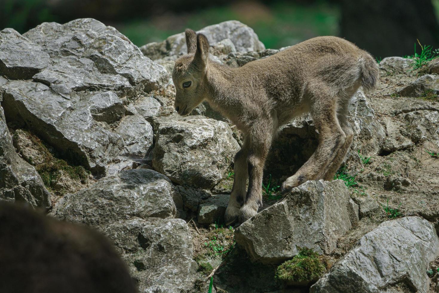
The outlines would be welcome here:
<svg viewBox="0 0 439 293">
<path fill-rule="evenodd" d="M 236 20 L 209 25 L 200 29 L 197 33 L 203 33 L 210 44 L 229 39 L 234 44 L 236 51 L 248 52 L 262 51 L 265 49 L 253 29 Z M 160 43 L 148 43 L 140 47 L 140 51 L 152 60 L 166 56 L 186 54 L 186 38 L 184 33 L 179 33 L 169 36 Z"/>
</svg>

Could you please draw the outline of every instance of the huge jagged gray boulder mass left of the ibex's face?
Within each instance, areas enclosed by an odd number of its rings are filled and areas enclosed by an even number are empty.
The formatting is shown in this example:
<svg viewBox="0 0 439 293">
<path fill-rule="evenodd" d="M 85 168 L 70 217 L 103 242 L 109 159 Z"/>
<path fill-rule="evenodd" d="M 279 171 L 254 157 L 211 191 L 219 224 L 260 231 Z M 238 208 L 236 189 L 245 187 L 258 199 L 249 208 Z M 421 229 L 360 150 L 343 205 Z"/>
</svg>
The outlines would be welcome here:
<svg viewBox="0 0 439 293">
<path fill-rule="evenodd" d="M 142 110 L 142 119 L 125 118 L 136 114 L 127 108 L 136 109 L 130 104 L 166 86 L 169 76 L 125 36 L 86 18 L 43 23 L 23 36 L 7 29 L 0 40 L 7 64 L 0 75 L 11 80 L 0 88 L 8 123 L 29 128 L 99 176 L 147 155 L 152 129 L 145 118 L 155 114 Z M 130 137 L 142 139 L 133 146 Z"/>
</svg>

